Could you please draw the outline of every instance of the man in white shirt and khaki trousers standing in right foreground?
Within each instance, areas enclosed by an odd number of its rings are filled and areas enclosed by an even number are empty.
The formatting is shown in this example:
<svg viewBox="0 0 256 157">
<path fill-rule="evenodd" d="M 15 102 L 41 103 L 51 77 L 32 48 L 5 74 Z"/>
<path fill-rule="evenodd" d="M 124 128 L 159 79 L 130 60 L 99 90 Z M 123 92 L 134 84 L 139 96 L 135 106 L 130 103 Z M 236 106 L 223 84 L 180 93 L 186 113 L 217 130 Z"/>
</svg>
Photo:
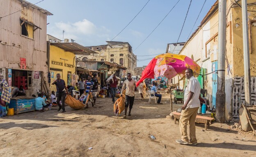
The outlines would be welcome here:
<svg viewBox="0 0 256 157">
<path fill-rule="evenodd" d="M 176 140 L 179 144 L 188 144 L 189 142 L 193 145 L 197 145 L 196 138 L 196 117 L 197 110 L 200 106 L 199 95 L 200 95 L 200 83 L 193 76 L 192 69 L 185 71 L 185 77 L 187 78 L 187 85 L 185 86 L 184 93 L 184 105 L 181 111 L 181 118 L 179 121 L 181 139 Z M 187 122 L 190 129 L 190 140 L 187 138 Z"/>
</svg>

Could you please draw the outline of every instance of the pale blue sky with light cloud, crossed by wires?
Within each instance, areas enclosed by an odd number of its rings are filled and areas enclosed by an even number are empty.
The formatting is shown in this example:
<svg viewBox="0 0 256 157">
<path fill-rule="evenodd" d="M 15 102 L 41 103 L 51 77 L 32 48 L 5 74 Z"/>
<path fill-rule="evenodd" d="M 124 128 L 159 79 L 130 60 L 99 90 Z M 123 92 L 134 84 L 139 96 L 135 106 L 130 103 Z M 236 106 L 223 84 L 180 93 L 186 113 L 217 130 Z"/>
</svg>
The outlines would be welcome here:
<svg viewBox="0 0 256 157">
<path fill-rule="evenodd" d="M 27 0 L 37 3 L 40 0 Z M 83 46 L 106 44 L 114 38 L 142 9 L 148 0 L 44 0 L 37 6 L 50 11 L 50 23 L 47 33 L 62 39 L 74 39 Z M 167 43 L 176 43 L 181 32 L 190 0 L 180 0 L 158 28 L 142 41 L 160 23 L 178 0 L 150 0 L 133 22 L 126 27 L 113 41 L 129 42 L 133 53 L 137 55 L 137 66 L 144 66 L 154 55 L 165 53 Z M 178 42 L 187 40 L 197 19 L 204 0 L 192 0 L 181 37 Z M 215 0 L 206 0 L 203 10 L 192 32 L 200 25 Z M 142 43 L 141 46 L 139 44 Z M 138 47 L 139 46 L 139 47 Z M 137 48 L 138 47 L 138 48 Z M 135 50 L 137 48 L 137 50 Z"/>
</svg>

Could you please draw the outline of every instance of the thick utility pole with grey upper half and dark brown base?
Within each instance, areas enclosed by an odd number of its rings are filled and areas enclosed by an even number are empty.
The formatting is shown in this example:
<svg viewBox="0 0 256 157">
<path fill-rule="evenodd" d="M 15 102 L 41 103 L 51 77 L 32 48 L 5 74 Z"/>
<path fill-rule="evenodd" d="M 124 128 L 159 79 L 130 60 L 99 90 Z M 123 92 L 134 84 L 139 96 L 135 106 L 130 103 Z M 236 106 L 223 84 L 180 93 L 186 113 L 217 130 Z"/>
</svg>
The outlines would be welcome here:
<svg viewBox="0 0 256 157">
<path fill-rule="evenodd" d="M 218 79 L 216 93 L 216 121 L 225 123 L 225 55 L 226 55 L 226 0 L 219 0 Z"/>
</svg>

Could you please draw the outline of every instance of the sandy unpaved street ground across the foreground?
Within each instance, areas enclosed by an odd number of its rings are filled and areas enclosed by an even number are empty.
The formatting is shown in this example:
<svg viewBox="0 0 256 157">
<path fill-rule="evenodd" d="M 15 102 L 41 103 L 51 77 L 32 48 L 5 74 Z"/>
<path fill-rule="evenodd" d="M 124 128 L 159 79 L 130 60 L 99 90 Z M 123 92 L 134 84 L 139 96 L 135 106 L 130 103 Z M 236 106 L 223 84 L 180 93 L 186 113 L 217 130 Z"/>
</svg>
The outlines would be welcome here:
<svg viewBox="0 0 256 157">
<path fill-rule="evenodd" d="M 95 107 L 66 113 L 57 107 L 0 118 L 1 157 L 256 157 L 256 137 L 213 123 L 197 124 L 197 146 L 180 145 L 179 126 L 168 120 L 169 95 L 164 105 L 148 104 L 135 96 L 132 116 L 114 116 L 111 98 L 98 98 Z M 182 104 L 174 104 L 174 109 Z M 81 116 L 75 119 L 65 118 Z M 151 140 L 150 135 L 155 136 Z M 165 148 L 166 146 L 166 148 Z M 91 150 L 88 148 L 92 147 Z"/>
</svg>

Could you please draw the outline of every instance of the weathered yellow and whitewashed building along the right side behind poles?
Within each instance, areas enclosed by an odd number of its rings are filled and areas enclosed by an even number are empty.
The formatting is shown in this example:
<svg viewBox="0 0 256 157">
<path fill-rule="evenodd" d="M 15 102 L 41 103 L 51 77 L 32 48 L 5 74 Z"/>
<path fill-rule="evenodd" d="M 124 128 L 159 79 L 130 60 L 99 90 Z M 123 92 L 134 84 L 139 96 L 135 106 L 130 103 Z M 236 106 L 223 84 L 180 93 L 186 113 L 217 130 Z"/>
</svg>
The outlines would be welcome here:
<svg viewBox="0 0 256 157">
<path fill-rule="evenodd" d="M 236 94 L 238 93 L 244 101 L 244 61 L 242 42 L 242 9 L 241 1 L 227 0 L 226 8 L 226 121 L 238 118 L 240 103 Z M 256 0 L 247 0 L 248 4 L 248 27 L 251 80 L 256 80 Z M 224 42 L 224 41 L 222 41 Z M 218 70 L 218 1 L 213 4 L 206 16 L 201 21 L 198 29 L 190 36 L 181 49 L 181 55 L 194 59 L 202 68 L 202 74 Z M 185 81 L 173 79 L 183 87 Z M 209 100 L 210 107 L 216 108 L 217 73 L 206 75 L 201 80 L 201 88 L 206 89 L 205 97 Z M 252 93 L 256 93 L 256 81 L 251 82 Z M 252 104 L 256 104 L 256 98 L 251 98 Z"/>
</svg>

